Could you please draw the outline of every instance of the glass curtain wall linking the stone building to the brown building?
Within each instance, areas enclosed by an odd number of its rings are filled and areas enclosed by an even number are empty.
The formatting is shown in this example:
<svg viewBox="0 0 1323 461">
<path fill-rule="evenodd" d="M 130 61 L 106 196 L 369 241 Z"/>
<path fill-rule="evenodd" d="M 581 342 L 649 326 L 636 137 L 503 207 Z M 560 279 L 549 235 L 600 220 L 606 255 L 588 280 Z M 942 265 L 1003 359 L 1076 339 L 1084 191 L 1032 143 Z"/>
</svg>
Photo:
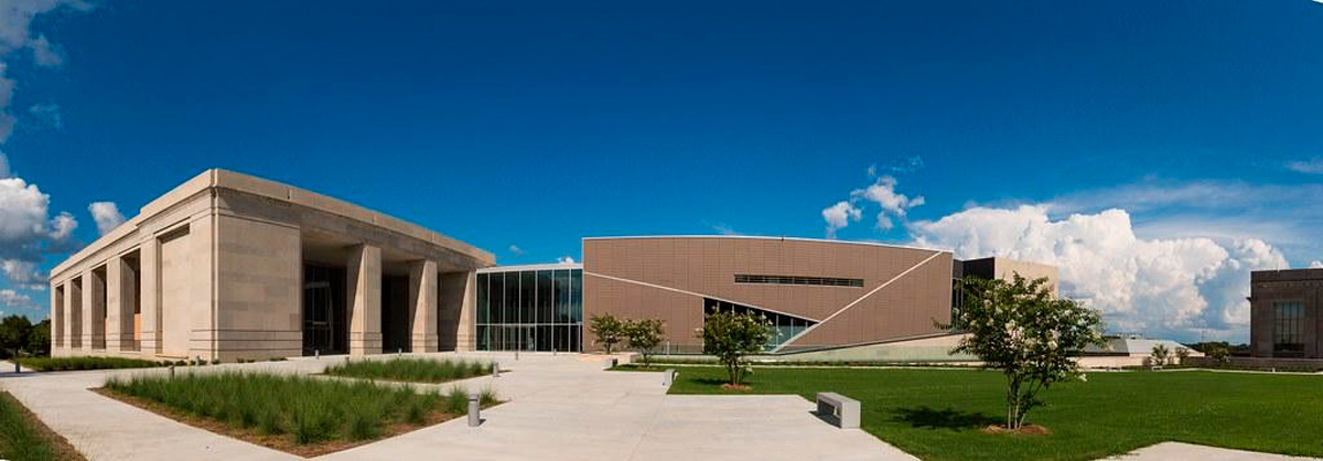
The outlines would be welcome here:
<svg viewBox="0 0 1323 461">
<path fill-rule="evenodd" d="M 583 269 L 478 274 L 478 350 L 582 351 Z"/>
</svg>

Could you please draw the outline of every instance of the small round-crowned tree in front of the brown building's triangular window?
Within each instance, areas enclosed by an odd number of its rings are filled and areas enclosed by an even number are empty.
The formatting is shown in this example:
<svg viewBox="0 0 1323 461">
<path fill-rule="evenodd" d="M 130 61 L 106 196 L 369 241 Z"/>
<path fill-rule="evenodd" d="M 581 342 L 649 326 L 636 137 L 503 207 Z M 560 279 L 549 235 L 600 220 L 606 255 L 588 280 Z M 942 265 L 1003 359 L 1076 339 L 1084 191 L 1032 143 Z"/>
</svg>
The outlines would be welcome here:
<svg viewBox="0 0 1323 461">
<path fill-rule="evenodd" d="M 699 329 L 703 352 L 714 355 L 726 367 L 732 385 L 746 374 L 744 356 L 761 352 L 771 339 L 771 322 L 761 314 L 712 313 Z"/>
</svg>

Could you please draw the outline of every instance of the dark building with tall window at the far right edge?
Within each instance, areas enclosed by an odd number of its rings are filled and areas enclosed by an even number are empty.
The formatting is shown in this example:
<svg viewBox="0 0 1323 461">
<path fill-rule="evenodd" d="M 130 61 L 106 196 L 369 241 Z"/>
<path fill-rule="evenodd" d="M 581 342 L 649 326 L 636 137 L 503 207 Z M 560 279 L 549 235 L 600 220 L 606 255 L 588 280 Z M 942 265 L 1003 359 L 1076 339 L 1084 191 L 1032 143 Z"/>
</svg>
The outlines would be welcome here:
<svg viewBox="0 0 1323 461">
<path fill-rule="evenodd" d="M 1323 358 L 1323 269 L 1250 274 L 1250 354 Z"/>
</svg>

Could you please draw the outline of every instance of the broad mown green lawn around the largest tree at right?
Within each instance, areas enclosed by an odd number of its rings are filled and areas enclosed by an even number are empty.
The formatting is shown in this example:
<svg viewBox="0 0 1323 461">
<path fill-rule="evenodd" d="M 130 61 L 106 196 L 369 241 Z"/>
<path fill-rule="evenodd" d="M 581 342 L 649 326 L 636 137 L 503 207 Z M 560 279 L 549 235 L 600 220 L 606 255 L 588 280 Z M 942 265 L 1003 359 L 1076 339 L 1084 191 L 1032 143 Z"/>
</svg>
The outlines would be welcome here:
<svg viewBox="0 0 1323 461">
<path fill-rule="evenodd" d="M 676 367 L 671 393 L 721 391 L 724 368 Z M 1162 441 L 1323 456 L 1323 376 L 1211 371 L 1095 372 L 1029 413 L 1050 435 L 984 435 L 1004 423 L 996 371 L 755 368 L 753 393 L 839 392 L 863 429 L 925 460 L 1095 460 Z"/>
</svg>

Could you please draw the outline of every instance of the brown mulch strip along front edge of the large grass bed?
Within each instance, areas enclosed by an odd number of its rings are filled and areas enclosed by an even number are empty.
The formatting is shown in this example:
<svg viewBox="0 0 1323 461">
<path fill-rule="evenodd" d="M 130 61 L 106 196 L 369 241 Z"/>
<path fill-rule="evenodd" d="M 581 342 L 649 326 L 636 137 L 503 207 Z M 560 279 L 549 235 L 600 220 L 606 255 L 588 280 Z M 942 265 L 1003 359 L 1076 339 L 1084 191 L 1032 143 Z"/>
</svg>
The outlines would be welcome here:
<svg viewBox="0 0 1323 461">
<path fill-rule="evenodd" d="M 257 431 L 257 428 L 243 429 L 225 424 L 224 421 L 217 421 L 209 417 L 201 417 L 194 415 L 188 415 L 185 412 L 177 411 L 175 408 L 167 407 L 155 400 L 148 400 L 143 397 L 130 396 L 118 393 L 106 388 L 94 388 L 93 392 L 101 393 L 103 396 L 127 403 L 130 405 L 149 411 L 152 413 L 165 416 L 168 419 L 192 425 L 198 429 L 210 431 L 222 436 L 234 437 L 254 445 L 262 445 L 266 448 L 277 449 L 286 453 L 298 454 L 306 458 L 335 453 L 340 450 L 347 450 L 359 445 L 366 445 L 378 440 L 390 438 L 402 433 L 414 432 L 438 423 L 445 423 L 459 417 L 459 415 L 451 415 L 445 412 L 431 412 L 423 419 L 422 424 L 409 424 L 409 423 L 394 423 L 388 424 L 382 428 L 381 436 L 369 440 L 327 440 L 311 444 L 295 444 L 294 436 L 284 435 L 263 435 Z M 79 457 L 79 460 L 82 460 Z"/>
</svg>

